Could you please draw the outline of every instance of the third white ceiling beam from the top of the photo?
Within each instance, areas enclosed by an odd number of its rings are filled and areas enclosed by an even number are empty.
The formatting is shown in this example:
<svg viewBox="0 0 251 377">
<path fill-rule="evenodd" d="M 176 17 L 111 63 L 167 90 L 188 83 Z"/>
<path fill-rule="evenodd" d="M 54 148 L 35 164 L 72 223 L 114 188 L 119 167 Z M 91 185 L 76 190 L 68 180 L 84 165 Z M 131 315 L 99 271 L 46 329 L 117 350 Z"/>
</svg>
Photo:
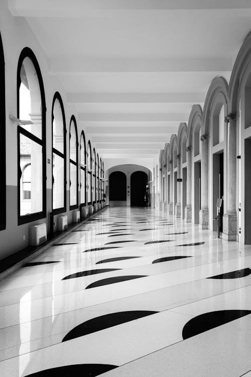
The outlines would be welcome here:
<svg viewBox="0 0 251 377">
<path fill-rule="evenodd" d="M 69 104 L 199 104 L 205 93 L 69 93 Z"/>
</svg>

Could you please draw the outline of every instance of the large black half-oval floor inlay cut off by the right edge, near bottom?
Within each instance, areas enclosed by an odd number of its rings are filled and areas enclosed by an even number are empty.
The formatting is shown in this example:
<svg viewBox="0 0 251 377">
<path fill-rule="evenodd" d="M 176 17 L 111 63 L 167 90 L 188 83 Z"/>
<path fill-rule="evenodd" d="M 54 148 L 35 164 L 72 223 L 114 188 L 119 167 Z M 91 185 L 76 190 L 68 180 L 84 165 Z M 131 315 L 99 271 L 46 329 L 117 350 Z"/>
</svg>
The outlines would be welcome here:
<svg viewBox="0 0 251 377">
<path fill-rule="evenodd" d="M 185 324 L 182 330 L 182 337 L 184 340 L 191 338 L 248 314 L 251 314 L 251 310 L 219 310 L 200 314 Z"/>
</svg>

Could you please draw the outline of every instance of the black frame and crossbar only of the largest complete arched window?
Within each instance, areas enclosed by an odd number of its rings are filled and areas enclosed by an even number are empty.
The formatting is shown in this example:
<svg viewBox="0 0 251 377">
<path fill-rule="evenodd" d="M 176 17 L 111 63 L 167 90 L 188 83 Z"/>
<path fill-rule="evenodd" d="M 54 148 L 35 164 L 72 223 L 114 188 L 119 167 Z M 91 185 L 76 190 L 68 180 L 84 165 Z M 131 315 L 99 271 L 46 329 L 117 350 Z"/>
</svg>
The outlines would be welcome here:
<svg viewBox="0 0 251 377">
<path fill-rule="evenodd" d="M 37 58 L 34 52 L 29 48 L 25 47 L 19 57 L 18 61 L 18 69 L 17 69 L 17 116 L 19 118 L 19 89 L 21 85 L 21 66 L 23 64 L 24 59 L 28 57 L 31 59 L 34 68 L 36 70 L 39 87 L 40 87 L 40 94 L 41 94 L 41 109 L 42 109 L 42 139 L 37 138 L 35 135 L 30 133 L 29 131 L 25 130 L 22 126 L 18 126 L 18 166 L 20 166 L 20 134 L 28 137 L 32 141 L 38 143 L 42 146 L 42 170 L 43 170 L 43 177 L 42 177 L 42 184 L 43 184 L 43 194 L 42 194 L 42 211 L 21 216 L 20 215 L 20 179 L 18 179 L 18 225 L 26 224 L 31 221 L 36 221 L 39 219 L 46 218 L 46 102 L 45 102 L 45 90 L 44 90 L 44 83 L 42 78 L 42 73 L 37 61 Z M 18 169 L 19 170 L 19 169 Z M 19 171 L 18 171 L 18 178 L 19 178 Z"/>
</svg>

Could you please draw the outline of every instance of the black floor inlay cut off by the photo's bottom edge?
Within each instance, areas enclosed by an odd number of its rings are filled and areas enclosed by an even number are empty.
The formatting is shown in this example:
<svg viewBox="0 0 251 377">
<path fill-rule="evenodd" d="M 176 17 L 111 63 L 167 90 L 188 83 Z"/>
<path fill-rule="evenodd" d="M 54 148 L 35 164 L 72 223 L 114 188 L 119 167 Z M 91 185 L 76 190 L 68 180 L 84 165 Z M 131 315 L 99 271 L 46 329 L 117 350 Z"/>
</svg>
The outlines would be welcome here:
<svg viewBox="0 0 251 377">
<path fill-rule="evenodd" d="M 111 369 L 116 365 L 109 364 L 76 364 L 58 366 L 56 368 L 41 370 L 36 373 L 26 375 L 26 377 L 95 377 Z"/>
</svg>

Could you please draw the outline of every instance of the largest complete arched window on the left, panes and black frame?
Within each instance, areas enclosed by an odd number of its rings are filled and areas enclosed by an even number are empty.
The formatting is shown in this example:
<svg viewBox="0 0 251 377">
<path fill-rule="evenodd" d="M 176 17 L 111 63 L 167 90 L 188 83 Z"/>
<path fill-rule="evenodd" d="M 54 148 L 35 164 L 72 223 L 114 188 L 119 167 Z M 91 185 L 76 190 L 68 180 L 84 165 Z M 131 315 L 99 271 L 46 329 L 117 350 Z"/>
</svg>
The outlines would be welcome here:
<svg viewBox="0 0 251 377">
<path fill-rule="evenodd" d="M 38 61 L 28 47 L 21 52 L 17 74 L 18 118 L 18 224 L 46 217 L 46 124 L 45 92 Z M 30 199 L 24 199 L 22 177 L 30 170 Z"/>
</svg>

